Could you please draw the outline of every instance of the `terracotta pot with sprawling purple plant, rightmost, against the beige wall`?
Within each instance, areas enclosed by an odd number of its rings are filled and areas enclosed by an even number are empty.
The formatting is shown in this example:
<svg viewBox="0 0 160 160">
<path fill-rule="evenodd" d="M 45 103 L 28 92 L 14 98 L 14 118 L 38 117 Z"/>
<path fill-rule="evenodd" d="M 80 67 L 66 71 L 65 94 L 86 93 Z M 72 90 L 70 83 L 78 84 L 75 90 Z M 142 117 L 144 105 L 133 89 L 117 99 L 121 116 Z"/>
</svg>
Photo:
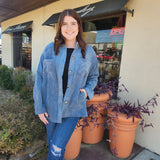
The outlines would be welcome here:
<svg viewBox="0 0 160 160">
<path fill-rule="evenodd" d="M 127 91 L 126 88 L 125 90 Z M 142 130 L 144 127 L 152 126 L 151 123 L 145 123 L 143 114 L 150 115 L 153 113 L 152 110 L 149 110 L 149 106 L 156 106 L 158 97 L 158 94 L 156 94 L 143 105 L 140 104 L 139 100 L 136 103 L 128 101 L 120 103 L 120 98 L 117 98 L 116 102 L 110 101 L 107 104 L 109 145 L 115 156 L 119 158 L 129 157 L 132 152 L 137 126 L 140 125 Z"/>
</svg>

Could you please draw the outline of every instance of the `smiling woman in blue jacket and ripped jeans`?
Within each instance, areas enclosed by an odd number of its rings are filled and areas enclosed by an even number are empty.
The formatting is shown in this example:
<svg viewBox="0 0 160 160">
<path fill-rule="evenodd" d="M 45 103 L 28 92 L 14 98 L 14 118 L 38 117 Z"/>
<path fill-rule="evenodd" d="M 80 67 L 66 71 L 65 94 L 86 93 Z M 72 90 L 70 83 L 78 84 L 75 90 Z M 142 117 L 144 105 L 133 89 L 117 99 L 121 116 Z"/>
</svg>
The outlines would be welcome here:
<svg viewBox="0 0 160 160">
<path fill-rule="evenodd" d="M 94 50 L 83 39 L 78 14 L 64 10 L 54 43 L 41 55 L 34 86 L 35 113 L 45 124 L 48 160 L 63 160 L 64 151 L 80 117 L 87 116 L 98 79 Z"/>
</svg>

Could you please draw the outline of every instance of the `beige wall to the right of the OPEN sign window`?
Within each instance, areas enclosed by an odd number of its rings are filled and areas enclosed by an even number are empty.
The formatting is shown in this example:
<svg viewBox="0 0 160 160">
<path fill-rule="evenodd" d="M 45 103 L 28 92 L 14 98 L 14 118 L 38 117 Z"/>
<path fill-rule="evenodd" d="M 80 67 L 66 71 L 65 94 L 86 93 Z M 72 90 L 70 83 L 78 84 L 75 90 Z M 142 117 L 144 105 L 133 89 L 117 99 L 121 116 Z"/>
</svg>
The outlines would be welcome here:
<svg viewBox="0 0 160 160">
<path fill-rule="evenodd" d="M 129 93 L 122 98 L 146 102 L 155 93 L 160 94 L 160 1 L 130 0 L 128 8 L 134 9 L 134 17 L 127 14 L 120 76 Z M 146 117 L 154 128 L 136 132 L 135 142 L 160 154 L 160 104 L 154 114 Z"/>
</svg>

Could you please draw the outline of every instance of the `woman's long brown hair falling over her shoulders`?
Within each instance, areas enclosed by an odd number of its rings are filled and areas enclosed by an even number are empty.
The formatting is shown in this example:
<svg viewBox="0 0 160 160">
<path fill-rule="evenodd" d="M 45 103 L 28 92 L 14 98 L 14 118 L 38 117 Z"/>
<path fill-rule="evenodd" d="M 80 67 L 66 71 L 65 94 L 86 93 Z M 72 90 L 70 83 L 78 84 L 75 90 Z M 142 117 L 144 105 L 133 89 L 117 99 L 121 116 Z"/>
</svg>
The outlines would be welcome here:
<svg viewBox="0 0 160 160">
<path fill-rule="evenodd" d="M 58 55 L 59 48 L 65 43 L 65 39 L 64 39 L 64 37 L 63 37 L 63 35 L 61 33 L 61 26 L 63 24 L 63 20 L 64 20 L 65 16 L 73 17 L 78 23 L 79 32 L 78 32 L 78 35 L 76 37 L 76 40 L 79 43 L 79 46 L 81 47 L 82 57 L 85 58 L 86 42 L 84 41 L 84 38 L 83 38 L 82 22 L 81 22 L 81 19 L 80 19 L 79 15 L 76 13 L 76 11 L 74 11 L 72 9 L 64 10 L 59 16 L 58 31 L 57 31 L 55 39 L 54 39 L 55 55 Z"/>
</svg>

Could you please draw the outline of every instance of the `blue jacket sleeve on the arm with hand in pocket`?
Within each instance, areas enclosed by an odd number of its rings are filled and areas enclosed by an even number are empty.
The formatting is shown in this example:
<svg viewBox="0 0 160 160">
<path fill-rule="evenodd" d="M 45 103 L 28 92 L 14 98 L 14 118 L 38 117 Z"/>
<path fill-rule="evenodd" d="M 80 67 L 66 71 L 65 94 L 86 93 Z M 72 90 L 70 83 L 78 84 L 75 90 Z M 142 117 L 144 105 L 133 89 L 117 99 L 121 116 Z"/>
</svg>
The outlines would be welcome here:
<svg viewBox="0 0 160 160">
<path fill-rule="evenodd" d="M 94 88 L 97 85 L 98 76 L 99 76 L 98 61 L 97 61 L 96 54 L 95 54 L 92 47 L 90 47 L 90 52 L 92 52 L 92 57 L 91 57 L 92 64 L 90 67 L 90 71 L 89 71 L 86 85 L 84 87 L 84 89 L 86 90 L 87 95 L 88 95 L 87 96 L 88 100 L 90 100 L 94 95 Z"/>
</svg>

